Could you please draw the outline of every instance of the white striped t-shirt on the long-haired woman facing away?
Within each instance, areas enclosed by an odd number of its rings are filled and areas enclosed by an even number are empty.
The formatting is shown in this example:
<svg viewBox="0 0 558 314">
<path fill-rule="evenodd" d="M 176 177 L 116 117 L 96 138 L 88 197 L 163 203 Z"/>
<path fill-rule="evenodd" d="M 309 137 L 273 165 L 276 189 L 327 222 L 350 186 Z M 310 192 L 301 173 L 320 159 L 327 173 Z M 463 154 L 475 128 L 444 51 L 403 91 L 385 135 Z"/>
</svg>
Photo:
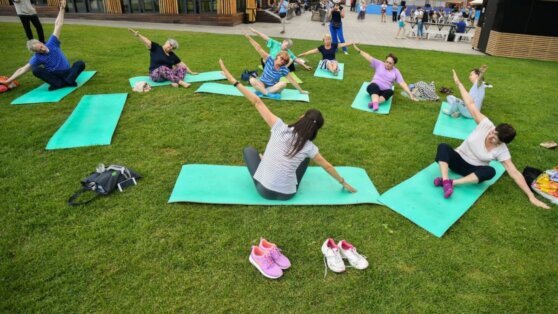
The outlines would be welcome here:
<svg viewBox="0 0 558 314">
<path fill-rule="evenodd" d="M 293 157 L 287 156 L 292 147 L 292 140 L 296 134 L 283 120 L 277 119 L 271 127 L 271 137 L 267 142 L 265 152 L 254 174 L 254 179 L 268 190 L 283 194 L 296 193 L 296 169 L 306 158 L 314 158 L 318 154 L 318 147 L 307 141 L 304 147 Z"/>
</svg>

